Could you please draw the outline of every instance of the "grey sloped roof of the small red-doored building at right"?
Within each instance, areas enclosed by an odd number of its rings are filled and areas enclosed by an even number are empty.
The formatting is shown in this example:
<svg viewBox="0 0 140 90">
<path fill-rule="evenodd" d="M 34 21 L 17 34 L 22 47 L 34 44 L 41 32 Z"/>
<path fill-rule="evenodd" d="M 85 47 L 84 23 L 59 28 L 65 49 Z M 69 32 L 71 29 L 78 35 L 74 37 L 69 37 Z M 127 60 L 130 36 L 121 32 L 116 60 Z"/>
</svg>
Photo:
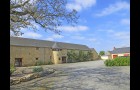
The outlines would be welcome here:
<svg viewBox="0 0 140 90">
<path fill-rule="evenodd" d="M 113 51 L 109 51 L 111 54 L 118 54 L 118 53 L 130 53 L 130 47 L 123 47 L 123 48 L 115 48 Z"/>
</svg>

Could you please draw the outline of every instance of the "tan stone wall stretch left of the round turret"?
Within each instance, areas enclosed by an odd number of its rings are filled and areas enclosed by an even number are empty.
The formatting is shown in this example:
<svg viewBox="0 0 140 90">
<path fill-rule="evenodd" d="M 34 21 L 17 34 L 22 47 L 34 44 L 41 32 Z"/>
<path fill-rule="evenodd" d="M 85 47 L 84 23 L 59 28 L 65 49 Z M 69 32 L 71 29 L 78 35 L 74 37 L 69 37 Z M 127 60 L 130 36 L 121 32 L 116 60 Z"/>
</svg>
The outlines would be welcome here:
<svg viewBox="0 0 140 90">
<path fill-rule="evenodd" d="M 22 58 L 22 66 L 33 66 L 37 61 L 47 63 L 50 61 L 52 51 L 50 48 L 10 46 L 10 63 L 15 63 L 15 58 Z"/>
</svg>

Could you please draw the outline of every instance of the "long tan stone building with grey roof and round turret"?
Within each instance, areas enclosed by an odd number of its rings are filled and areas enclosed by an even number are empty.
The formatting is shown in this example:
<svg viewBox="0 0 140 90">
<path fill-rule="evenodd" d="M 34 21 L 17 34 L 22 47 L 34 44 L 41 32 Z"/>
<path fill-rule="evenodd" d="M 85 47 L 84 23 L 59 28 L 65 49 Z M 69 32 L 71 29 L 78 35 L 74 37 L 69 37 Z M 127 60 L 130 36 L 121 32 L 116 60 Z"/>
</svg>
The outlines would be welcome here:
<svg viewBox="0 0 140 90">
<path fill-rule="evenodd" d="M 10 37 L 10 63 L 15 66 L 32 66 L 38 61 L 67 63 L 67 52 L 71 50 L 76 53 L 80 50 L 84 53 L 92 51 L 93 60 L 98 59 L 95 49 L 90 49 L 86 45 Z"/>
</svg>

